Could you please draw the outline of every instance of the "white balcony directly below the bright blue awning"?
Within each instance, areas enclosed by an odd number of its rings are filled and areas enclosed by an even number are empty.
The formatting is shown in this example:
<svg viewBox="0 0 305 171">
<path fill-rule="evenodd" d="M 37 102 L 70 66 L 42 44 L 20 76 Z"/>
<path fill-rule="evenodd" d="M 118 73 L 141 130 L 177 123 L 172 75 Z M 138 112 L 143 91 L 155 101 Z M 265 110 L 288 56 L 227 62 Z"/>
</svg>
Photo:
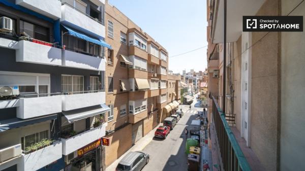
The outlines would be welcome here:
<svg viewBox="0 0 305 171">
<path fill-rule="evenodd" d="M 105 71 L 105 58 L 63 50 L 62 65 L 77 69 Z"/>
</svg>

